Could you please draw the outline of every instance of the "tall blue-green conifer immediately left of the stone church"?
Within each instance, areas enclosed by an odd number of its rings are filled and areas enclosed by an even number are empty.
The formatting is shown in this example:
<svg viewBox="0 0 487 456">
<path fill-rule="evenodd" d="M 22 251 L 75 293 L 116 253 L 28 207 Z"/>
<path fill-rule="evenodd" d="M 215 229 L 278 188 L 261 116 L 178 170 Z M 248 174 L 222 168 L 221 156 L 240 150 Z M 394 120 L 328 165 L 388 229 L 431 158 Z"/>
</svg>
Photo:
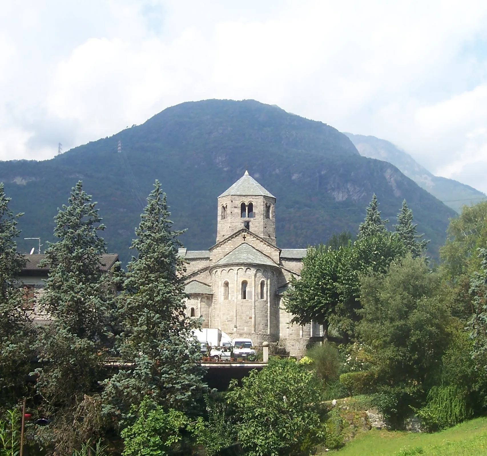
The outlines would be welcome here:
<svg viewBox="0 0 487 456">
<path fill-rule="evenodd" d="M 131 404 L 146 395 L 166 409 L 184 411 L 205 388 L 199 346 L 191 338 L 198 321 L 185 313 L 184 261 L 178 255 L 182 231 L 172 221 L 158 181 L 135 230 L 125 292 L 119 296 L 121 335 L 116 348 L 121 360 L 133 363 L 105 382 L 106 412 L 126 417 Z"/>
</svg>

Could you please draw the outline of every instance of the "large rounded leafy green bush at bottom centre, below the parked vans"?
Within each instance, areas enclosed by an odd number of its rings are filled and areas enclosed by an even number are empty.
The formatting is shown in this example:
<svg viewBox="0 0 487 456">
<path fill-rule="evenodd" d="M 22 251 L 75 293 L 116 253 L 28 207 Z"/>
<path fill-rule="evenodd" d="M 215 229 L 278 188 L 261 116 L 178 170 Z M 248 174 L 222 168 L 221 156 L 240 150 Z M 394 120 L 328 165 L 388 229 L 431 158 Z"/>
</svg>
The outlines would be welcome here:
<svg viewBox="0 0 487 456">
<path fill-rule="evenodd" d="M 321 385 L 293 360 L 271 358 L 260 372 L 232 381 L 228 402 L 246 454 L 304 455 L 323 436 L 317 412 Z"/>
</svg>

